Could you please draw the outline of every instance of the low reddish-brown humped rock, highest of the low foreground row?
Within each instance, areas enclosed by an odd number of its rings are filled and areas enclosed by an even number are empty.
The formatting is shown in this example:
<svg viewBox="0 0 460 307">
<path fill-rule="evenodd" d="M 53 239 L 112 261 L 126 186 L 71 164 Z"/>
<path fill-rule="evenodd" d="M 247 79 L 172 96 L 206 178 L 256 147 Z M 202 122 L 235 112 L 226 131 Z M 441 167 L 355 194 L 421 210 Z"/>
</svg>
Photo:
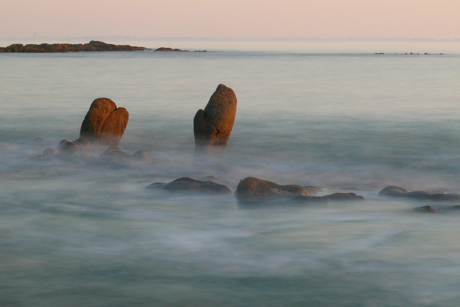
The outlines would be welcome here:
<svg viewBox="0 0 460 307">
<path fill-rule="evenodd" d="M 247 177 L 240 181 L 235 191 L 240 200 L 263 200 L 272 197 L 296 197 L 309 195 L 300 185 L 278 185 L 274 182 Z"/>
</svg>

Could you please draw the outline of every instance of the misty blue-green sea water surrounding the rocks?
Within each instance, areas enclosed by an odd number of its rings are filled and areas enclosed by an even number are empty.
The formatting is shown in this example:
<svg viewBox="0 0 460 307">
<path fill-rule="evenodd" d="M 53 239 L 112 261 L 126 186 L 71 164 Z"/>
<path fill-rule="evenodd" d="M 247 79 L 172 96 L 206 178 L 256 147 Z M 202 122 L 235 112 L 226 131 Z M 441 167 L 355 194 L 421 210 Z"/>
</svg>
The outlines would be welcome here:
<svg viewBox="0 0 460 307">
<path fill-rule="evenodd" d="M 460 211 L 377 195 L 460 192 L 458 44 L 130 44 L 209 52 L 0 54 L 2 307 L 459 305 Z M 235 125 L 222 159 L 196 160 L 219 83 Z M 77 139 L 98 97 L 129 111 L 121 149 L 162 162 L 28 159 Z M 245 210 L 143 189 L 207 175 L 367 201 Z"/>
</svg>

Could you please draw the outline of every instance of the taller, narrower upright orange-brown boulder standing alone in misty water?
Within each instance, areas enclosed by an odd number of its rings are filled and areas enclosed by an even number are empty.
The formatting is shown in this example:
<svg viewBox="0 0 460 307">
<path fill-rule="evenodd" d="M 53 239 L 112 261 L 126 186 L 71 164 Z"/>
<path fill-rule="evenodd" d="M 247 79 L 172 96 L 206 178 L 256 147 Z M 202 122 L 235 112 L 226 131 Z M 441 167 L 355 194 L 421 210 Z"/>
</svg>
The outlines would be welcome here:
<svg viewBox="0 0 460 307">
<path fill-rule="evenodd" d="M 219 84 L 204 110 L 193 119 L 195 153 L 224 152 L 236 115 L 236 95 L 230 87 Z"/>
</svg>

